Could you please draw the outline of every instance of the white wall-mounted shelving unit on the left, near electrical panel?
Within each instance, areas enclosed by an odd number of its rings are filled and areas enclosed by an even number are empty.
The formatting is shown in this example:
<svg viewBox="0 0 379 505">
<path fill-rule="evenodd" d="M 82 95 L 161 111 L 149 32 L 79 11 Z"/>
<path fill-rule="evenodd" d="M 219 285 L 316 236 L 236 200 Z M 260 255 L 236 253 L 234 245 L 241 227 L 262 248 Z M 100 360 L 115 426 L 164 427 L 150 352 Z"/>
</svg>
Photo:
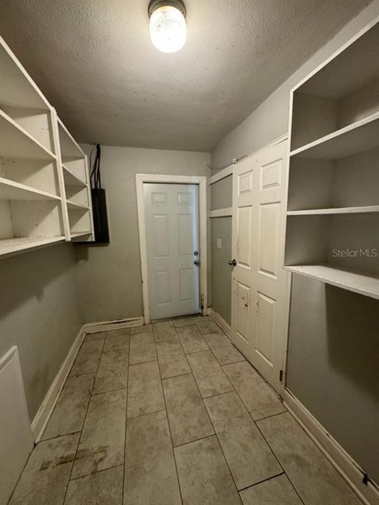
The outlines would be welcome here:
<svg viewBox="0 0 379 505">
<path fill-rule="evenodd" d="M 0 139 L 0 256 L 92 241 L 86 156 L 1 37 Z"/>
</svg>

